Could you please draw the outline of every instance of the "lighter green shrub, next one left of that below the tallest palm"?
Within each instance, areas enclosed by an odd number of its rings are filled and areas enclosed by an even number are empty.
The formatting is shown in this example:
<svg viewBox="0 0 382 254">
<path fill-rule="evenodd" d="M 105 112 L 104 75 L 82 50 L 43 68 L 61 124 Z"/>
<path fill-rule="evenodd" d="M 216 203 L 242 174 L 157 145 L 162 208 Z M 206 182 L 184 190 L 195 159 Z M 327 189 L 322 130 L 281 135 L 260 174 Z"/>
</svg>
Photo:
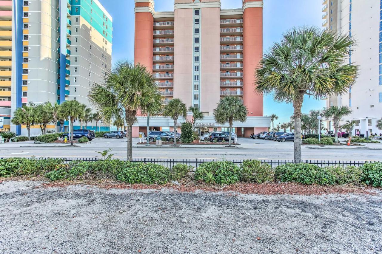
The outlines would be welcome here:
<svg viewBox="0 0 382 254">
<path fill-rule="evenodd" d="M 265 163 L 262 164 L 258 160 L 244 160 L 241 164 L 241 178 L 242 181 L 251 181 L 255 183 L 273 182 L 274 171 L 272 167 Z"/>
</svg>

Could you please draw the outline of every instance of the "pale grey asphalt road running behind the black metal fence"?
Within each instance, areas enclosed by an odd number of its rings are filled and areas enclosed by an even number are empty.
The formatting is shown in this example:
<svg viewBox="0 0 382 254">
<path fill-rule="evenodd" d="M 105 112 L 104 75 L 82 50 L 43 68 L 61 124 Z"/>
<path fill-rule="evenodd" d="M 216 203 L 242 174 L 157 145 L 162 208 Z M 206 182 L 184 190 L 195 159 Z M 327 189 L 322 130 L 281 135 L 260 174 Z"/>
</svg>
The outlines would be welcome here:
<svg viewBox="0 0 382 254">
<path fill-rule="evenodd" d="M 0 157 L 99 157 L 95 151 L 113 148 L 115 158 L 126 158 L 126 139 L 95 139 L 90 145 L 76 147 L 31 147 L 21 142 L 0 145 Z M 171 159 L 293 159 L 293 143 L 251 140 L 240 138 L 242 148 L 170 148 L 138 147 L 133 148 L 134 158 L 171 158 Z M 134 140 L 135 143 L 135 140 Z M 31 144 L 32 145 L 32 144 Z M 374 145 L 374 144 L 373 144 Z M 376 144 L 374 147 L 381 147 Z M 340 147 L 343 148 L 343 147 Z M 371 149 L 311 149 L 302 148 L 306 160 L 374 160 L 382 161 L 382 150 Z"/>
</svg>

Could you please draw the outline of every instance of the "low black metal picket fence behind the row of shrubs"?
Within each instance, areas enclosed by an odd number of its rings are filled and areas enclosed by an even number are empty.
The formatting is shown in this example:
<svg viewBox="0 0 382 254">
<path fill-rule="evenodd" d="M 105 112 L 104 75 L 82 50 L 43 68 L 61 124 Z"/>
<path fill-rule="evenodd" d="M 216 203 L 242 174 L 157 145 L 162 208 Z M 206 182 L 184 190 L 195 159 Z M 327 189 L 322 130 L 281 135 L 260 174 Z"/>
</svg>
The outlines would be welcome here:
<svg viewBox="0 0 382 254">
<path fill-rule="evenodd" d="M 6 159 L 6 158 L 14 158 L 14 157 L 2 157 L 1 159 Z M 48 159 L 52 157 L 32 157 L 28 159 Z M 103 158 L 98 158 L 98 157 L 67 157 L 67 158 L 53 158 L 53 159 L 63 159 L 65 163 L 71 162 L 71 161 L 102 161 L 104 160 Z M 116 158 L 115 160 L 118 160 Z M 119 160 L 122 161 L 127 161 L 126 158 L 120 158 Z M 211 162 L 211 161 L 222 161 L 222 159 L 161 159 L 161 158 L 136 158 L 133 159 L 132 162 L 144 162 L 144 163 L 155 163 L 155 164 L 160 164 L 162 166 L 172 168 L 175 164 L 186 164 L 188 166 L 193 166 L 194 170 L 200 164 L 203 162 Z M 240 166 L 244 159 L 227 159 L 226 161 L 231 161 L 237 166 Z M 280 165 L 284 165 L 287 163 L 309 163 L 309 164 L 314 164 L 319 167 L 326 167 L 326 166 L 335 166 L 335 165 L 343 165 L 343 166 L 356 166 L 360 167 L 363 164 L 366 163 L 366 161 L 333 161 L 333 160 L 303 160 L 303 161 L 294 161 L 294 160 L 260 160 L 262 164 L 269 164 L 272 168 L 275 168 Z"/>
</svg>

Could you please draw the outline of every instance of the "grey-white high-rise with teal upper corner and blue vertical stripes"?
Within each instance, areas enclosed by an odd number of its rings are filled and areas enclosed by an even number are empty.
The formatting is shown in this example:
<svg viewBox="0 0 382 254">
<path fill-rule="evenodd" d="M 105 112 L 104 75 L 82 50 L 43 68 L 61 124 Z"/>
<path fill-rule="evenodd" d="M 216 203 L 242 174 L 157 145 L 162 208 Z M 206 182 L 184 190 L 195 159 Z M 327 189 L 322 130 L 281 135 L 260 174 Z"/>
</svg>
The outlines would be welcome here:
<svg viewBox="0 0 382 254">
<path fill-rule="evenodd" d="M 13 0 L 12 22 L 11 114 L 29 102 L 77 100 L 91 107 L 91 85 L 102 82 L 112 62 L 112 17 L 100 2 Z M 11 130 L 26 133 L 21 126 Z"/>
</svg>

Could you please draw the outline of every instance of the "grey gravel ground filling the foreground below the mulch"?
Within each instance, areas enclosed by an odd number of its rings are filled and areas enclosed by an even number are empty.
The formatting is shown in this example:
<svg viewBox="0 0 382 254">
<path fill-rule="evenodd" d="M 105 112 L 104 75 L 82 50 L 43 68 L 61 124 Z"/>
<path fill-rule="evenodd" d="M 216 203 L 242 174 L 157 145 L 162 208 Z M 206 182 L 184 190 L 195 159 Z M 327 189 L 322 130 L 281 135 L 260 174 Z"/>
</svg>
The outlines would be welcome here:
<svg viewBox="0 0 382 254">
<path fill-rule="evenodd" d="M 382 253 L 376 195 L 0 183 L 1 253 Z"/>
</svg>

